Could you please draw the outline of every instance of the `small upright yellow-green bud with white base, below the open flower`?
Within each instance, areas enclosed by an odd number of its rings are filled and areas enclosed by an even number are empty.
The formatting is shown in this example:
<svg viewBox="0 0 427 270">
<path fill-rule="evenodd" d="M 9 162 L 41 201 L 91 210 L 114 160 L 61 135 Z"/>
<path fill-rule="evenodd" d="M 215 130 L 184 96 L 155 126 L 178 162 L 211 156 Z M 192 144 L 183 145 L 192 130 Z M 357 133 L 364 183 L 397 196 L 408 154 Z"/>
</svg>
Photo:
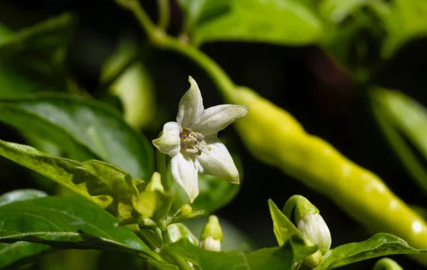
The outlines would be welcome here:
<svg viewBox="0 0 427 270">
<path fill-rule="evenodd" d="M 211 215 L 205 227 L 201 231 L 199 247 L 211 252 L 221 252 L 223 234 L 218 217 Z"/>
</svg>

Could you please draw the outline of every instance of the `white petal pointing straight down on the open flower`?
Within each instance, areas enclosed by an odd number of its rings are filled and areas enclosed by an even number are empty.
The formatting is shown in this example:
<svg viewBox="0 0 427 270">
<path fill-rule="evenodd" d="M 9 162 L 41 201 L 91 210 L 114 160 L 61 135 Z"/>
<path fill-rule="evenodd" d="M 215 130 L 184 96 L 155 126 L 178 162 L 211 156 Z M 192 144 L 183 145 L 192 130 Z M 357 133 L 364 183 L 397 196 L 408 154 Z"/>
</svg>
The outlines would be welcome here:
<svg viewBox="0 0 427 270">
<path fill-rule="evenodd" d="M 171 160 L 172 176 L 176 183 L 184 188 L 187 195 L 189 195 L 190 202 L 199 195 L 199 185 L 197 183 L 197 168 L 194 161 L 182 153 L 178 153 Z"/>
</svg>

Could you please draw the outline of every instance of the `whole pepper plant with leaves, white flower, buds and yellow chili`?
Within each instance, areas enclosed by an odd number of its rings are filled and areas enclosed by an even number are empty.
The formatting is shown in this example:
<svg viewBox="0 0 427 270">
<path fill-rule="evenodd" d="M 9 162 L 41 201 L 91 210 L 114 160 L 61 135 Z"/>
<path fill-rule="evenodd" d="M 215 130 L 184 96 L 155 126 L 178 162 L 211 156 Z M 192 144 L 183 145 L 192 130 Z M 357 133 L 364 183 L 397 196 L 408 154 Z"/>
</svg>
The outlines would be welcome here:
<svg viewBox="0 0 427 270">
<path fill-rule="evenodd" d="M 139 269 L 322 270 L 394 254 L 427 265 L 422 209 L 409 207 L 375 173 L 308 134 L 285 109 L 236 85 L 199 48 L 240 41 L 327 51 L 364 88 L 379 129 L 426 191 L 426 169 L 410 145 L 426 157 L 426 109 L 401 92 L 374 85 L 367 75 L 405 43 L 426 35 L 425 0 L 176 0 L 184 16 L 178 35 L 167 31 L 170 1 L 156 1 L 157 22 L 138 0 L 115 3 L 135 16 L 149 44 L 122 41 L 102 68 L 100 91 L 117 96 L 122 112 L 114 102 L 91 97 L 65 68 L 73 16 L 16 32 L 0 24 L 0 121 L 26 141 L 0 140 L 0 156 L 37 173 L 33 178 L 46 190 L 52 181 L 60 186 L 49 195 L 26 188 L 0 196 L 1 267 L 37 269 L 38 261 L 58 249 L 128 254 Z M 369 30 L 385 36 L 381 48 L 369 65 L 365 50 L 357 49 L 360 61 L 354 63 L 354 36 L 371 21 L 379 26 Z M 149 141 L 139 131 L 155 118 L 152 82 L 139 62 L 147 48 L 173 50 L 194 61 L 226 104 L 205 109 L 204 91 L 190 75 L 189 90 L 174 90 L 182 95 L 176 119 L 152 124 L 159 135 Z M 335 245 L 334 232 L 320 215 L 327 210 L 294 195 L 282 210 L 273 200 L 265 203 L 275 247 L 223 251 L 222 242 L 231 235 L 213 214 L 237 195 L 244 171 L 238 155 L 218 139 L 233 122 L 254 158 L 330 198 L 370 237 Z M 196 235 L 189 222 L 202 216 L 208 219 Z M 372 267 L 401 269 L 389 258 Z"/>
</svg>

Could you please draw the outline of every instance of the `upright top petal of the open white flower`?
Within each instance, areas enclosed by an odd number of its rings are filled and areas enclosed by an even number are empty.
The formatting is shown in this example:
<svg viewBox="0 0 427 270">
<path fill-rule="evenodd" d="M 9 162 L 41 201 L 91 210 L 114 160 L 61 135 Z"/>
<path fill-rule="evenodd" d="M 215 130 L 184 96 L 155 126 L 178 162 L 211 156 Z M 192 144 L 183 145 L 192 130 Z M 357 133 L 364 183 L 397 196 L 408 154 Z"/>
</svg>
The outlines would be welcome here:
<svg viewBox="0 0 427 270">
<path fill-rule="evenodd" d="M 204 111 L 203 99 L 196 81 L 190 76 L 190 89 L 179 101 L 176 121 L 183 127 L 191 127 Z"/>
</svg>

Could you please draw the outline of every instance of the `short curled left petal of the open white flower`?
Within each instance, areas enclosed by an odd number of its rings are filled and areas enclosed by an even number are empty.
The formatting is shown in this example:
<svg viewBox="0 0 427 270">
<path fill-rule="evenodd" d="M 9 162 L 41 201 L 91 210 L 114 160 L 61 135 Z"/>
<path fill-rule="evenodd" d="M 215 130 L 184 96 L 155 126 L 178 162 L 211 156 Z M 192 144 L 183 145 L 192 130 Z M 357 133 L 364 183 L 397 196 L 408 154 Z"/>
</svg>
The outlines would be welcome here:
<svg viewBox="0 0 427 270">
<path fill-rule="evenodd" d="M 160 152 L 169 156 L 175 156 L 181 148 L 179 134 L 182 132 L 181 126 L 176 122 L 167 122 L 163 126 L 163 134 L 159 139 L 152 142 Z"/>
</svg>

